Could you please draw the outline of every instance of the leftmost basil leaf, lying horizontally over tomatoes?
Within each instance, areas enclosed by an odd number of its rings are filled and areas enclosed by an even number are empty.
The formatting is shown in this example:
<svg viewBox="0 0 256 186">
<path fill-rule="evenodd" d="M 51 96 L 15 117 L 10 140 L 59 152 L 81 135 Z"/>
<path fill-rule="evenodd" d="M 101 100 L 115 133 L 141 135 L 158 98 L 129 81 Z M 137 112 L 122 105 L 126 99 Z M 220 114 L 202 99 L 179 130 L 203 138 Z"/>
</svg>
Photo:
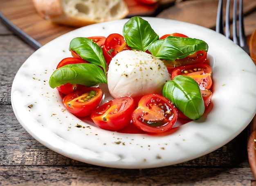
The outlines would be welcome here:
<svg viewBox="0 0 256 186">
<path fill-rule="evenodd" d="M 79 63 L 56 69 L 49 79 L 49 85 L 52 88 L 66 83 L 91 87 L 100 83 L 107 83 L 107 78 L 101 67 L 92 63 Z"/>
</svg>

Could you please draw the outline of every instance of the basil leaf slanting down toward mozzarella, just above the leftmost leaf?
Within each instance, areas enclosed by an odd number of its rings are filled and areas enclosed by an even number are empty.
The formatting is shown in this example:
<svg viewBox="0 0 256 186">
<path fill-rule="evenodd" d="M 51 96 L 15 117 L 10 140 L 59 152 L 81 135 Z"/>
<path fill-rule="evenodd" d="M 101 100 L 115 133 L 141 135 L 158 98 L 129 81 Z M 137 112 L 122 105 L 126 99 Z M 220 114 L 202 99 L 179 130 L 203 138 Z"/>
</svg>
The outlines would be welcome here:
<svg viewBox="0 0 256 186">
<path fill-rule="evenodd" d="M 78 37 L 70 41 L 70 50 L 74 50 L 81 58 L 94 65 L 103 68 L 106 74 L 106 61 L 103 56 L 103 51 L 99 45 L 94 43 L 91 39 Z"/>
</svg>

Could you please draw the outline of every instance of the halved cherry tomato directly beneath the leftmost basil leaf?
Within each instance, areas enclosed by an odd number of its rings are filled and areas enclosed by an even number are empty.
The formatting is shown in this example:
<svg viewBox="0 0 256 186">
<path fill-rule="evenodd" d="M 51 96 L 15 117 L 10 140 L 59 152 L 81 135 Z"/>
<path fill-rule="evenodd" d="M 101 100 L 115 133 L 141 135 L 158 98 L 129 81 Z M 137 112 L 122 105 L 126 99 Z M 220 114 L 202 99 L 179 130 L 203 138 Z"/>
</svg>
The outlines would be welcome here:
<svg viewBox="0 0 256 186">
<path fill-rule="evenodd" d="M 75 92 L 72 92 L 63 98 L 63 104 L 67 111 L 75 116 L 89 116 L 99 104 L 103 92 L 98 87 L 83 87 Z"/>
</svg>

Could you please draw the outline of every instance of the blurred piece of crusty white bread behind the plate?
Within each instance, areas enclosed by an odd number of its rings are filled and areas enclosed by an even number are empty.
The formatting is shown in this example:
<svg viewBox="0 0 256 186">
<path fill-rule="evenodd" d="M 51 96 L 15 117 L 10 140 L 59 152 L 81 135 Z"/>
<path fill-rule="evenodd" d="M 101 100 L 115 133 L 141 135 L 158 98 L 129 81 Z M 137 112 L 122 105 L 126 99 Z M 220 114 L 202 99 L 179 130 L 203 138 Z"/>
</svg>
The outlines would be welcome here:
<svg viewBox="0 0 256 186">
<path fill-rule="evenodd" d="M 75 27 L 125 18 L 129 13 L 124 0 L 33 0 L 33 3 L 44 19 Z"/>
</svg>

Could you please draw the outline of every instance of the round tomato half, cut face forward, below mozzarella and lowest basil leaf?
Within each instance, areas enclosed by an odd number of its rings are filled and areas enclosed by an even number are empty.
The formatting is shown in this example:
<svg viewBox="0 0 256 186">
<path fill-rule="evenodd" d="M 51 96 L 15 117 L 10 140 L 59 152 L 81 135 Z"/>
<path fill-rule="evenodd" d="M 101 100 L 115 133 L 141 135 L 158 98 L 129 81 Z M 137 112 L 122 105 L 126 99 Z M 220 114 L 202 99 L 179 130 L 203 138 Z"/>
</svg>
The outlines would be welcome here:
<svg viewBox="0 0 256 186">
<path fill-rule="evenodd" d="M 132 123 L 150 133 L 170 130 L 178 118 L 177 108 L 160 94 L 143 96 L 132 114 Z"/>
</svg>

